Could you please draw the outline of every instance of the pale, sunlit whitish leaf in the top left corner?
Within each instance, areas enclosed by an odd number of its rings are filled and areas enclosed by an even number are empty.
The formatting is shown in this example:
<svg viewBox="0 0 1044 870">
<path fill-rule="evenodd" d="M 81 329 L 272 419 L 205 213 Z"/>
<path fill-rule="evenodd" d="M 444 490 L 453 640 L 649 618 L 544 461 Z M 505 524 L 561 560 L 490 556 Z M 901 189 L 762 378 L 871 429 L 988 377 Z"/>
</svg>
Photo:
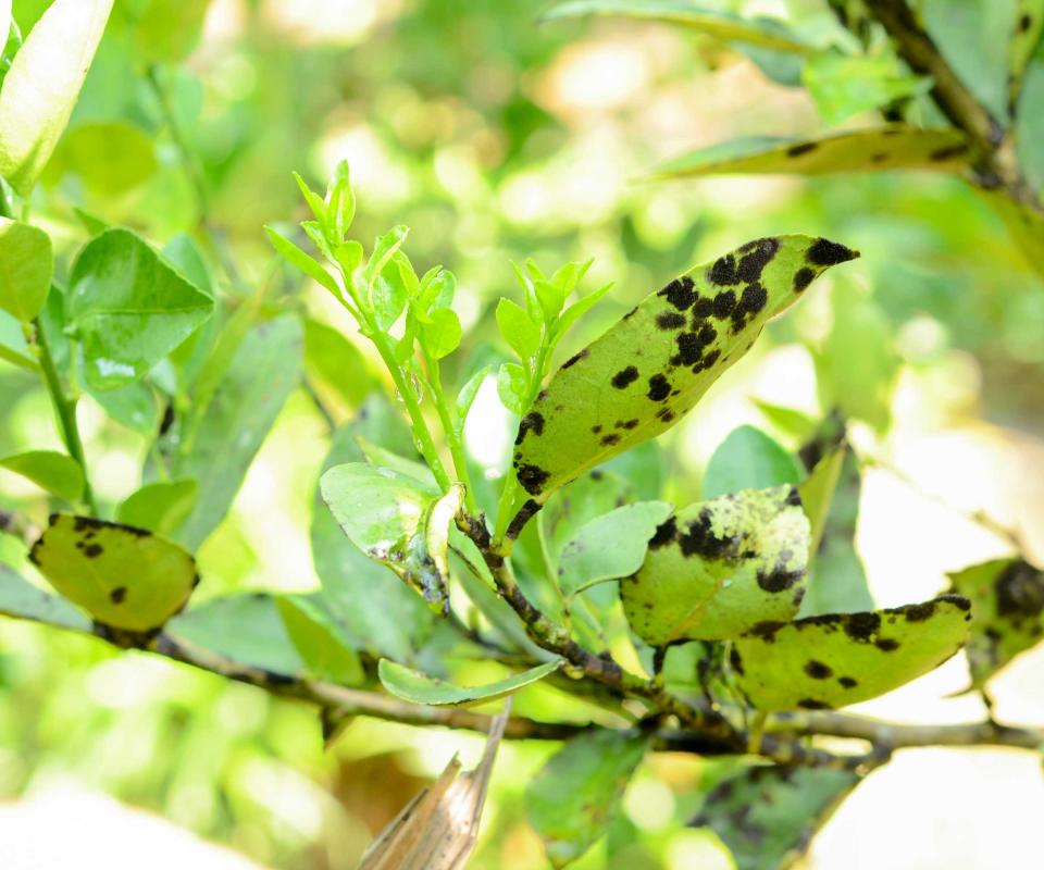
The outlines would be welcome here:
<svg viewBox="0 0 1044 870">
<path fill-rule="evenodd" d="M 0 89 L 0 175 L 28 196 L 69 123 L 113 0 L 54 0 Z"/>
</svg>

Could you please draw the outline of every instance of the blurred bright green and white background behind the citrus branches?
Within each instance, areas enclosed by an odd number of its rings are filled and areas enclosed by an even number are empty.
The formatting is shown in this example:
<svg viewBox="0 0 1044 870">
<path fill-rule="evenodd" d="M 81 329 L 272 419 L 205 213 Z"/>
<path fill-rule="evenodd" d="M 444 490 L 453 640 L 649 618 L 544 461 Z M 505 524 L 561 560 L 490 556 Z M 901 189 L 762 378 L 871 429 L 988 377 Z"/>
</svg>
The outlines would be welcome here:
<svg viewBox="0 0 1044 870">
<path fill-rule="evenodd" d="M 23 29 L 46 5 L 16 0 Z M 810 34 L 836 26 L 818 0 L 706 5 L 779 15 Z M 1044 559 L 1044 286 L 990 207 L 961 179 L 927 173 L 644 181 L 660 161 L 696 147 L 824 125 L 804 89 L 770 80 L 721 42 L 651 23 L 539 24 L 542 8 L 213 0 L 188 61 L 159 71 L 196 156 L 192 171 L 124 48 L 107 37 L 69 134 L 107 125 L 107 135 L 80 134 L 76 148 L 60 151 L 34 203 L 37 220 L 66 252 L 84 239 L 72 206 L 160 245 L 206 227 L 228 293 L 275 282 L 295 304 L 350 333 L 321 289 L 277 266 L 261 231 L 304 216 L 291 170 L 319 184 L 347 158 L 358 236 L 408 224 L 419 270 L 443 263 L 457 273 L 458 310 L 475 344 L 497 340 L 493 307 L 515 293 L 509 260 L 533 257 L 554 269 L 594 257 L 589 286 L 617 286 L 563 346 L 563 359 L 696 262 L 761 235 L 828 235 L 862 259 L 817 283 L 664 439 L 669 494 L 694 496 L 711 451 L 738 424 L 795 447 L 800 425 L 787 426 L 765 403 L 809 417 L 840 403 L 857 419 L 856 542 L 880 606 L 930 597 L 947 571 L 1011 552 L 998 530 Z M 1004 61 L 989 41 L 996 35 L 980 36 L 986 41 L 968 50 L 989 82 Z M 223 259 L 234 275 L 221 271 Z M 0 452 L 58 447 L 46 394 L 2 361 L 0 409 Z M 513 430 L 492 384 L 473 418 L 469 448 L 496 473 Z M 145 438 L 108 421 L 89 398 L 80 425 L 99 496 L 115 501 L 134 492 Z M 201 598 L 319 584 L 308 526 L 328 443 L 313 403 L 295 393 L 199 555 Z M 4 472 L 0 507 L 38 522 L 47 512 L 32 487 Z M 0 538 L 0 555 L 18 560 L 20 546 Z M 1003 721 L 1044 721 L 1042 674 L 1044 657 L 1029 654 L 994 682 Z M 915 722 L 979 718 L 973 696 L 946 697 L 967 682 L 958 657 L 861 709 Z M 481 745 L 467 734 L 360 720 L 324 751 L 306 707 L 0 621 L 3 867 L 104 855 L 108 867 L 148 859 L 350 868 L 455 751 L 473 761 Z M 548 866 L 521 798 L 551 749 L 502 748 L 472 867 Z M 683 826 L 713 767 L 649 758 L 624 817 L 576 866 L 730 867 L 712 834 Z M 1031 754 L 907 750 L 857 790 L 807 866 L 1035 867 L 1042 799 Z M 194 837 L 228 852 L 203 852 Z"/>
</svg>

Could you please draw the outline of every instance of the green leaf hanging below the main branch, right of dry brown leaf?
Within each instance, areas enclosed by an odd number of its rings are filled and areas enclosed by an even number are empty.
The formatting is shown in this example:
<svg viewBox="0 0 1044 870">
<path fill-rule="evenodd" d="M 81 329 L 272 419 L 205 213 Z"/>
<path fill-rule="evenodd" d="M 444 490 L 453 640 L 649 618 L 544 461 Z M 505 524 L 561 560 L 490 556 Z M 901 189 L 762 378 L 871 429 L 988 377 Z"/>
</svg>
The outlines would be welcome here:
<svg viewBox="0 0 1044 870">
<path fill-rule="evenodd" d="M 573 737 L 525 790 L 525 811 L 554 867 L 583 855 L 620 813 L 624 790 L 645 757 L 643 735 L 593 731 Z"/>
</svg>

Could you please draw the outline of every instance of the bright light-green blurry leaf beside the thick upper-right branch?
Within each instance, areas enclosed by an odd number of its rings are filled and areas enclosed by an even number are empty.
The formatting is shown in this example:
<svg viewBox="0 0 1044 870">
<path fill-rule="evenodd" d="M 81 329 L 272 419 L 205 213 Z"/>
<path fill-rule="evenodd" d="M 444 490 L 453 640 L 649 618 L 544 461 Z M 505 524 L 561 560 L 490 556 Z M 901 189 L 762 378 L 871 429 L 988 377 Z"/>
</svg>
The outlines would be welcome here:
<svg viewBox="0 0 1044 870">
<path fill-rule="evenodd" d="M 812 54 L 801 78 L 829 126 L 931 87 L 931 79 L 903 74 L 891 54 L 850 55 L 836 49 Z"/>
</svg>

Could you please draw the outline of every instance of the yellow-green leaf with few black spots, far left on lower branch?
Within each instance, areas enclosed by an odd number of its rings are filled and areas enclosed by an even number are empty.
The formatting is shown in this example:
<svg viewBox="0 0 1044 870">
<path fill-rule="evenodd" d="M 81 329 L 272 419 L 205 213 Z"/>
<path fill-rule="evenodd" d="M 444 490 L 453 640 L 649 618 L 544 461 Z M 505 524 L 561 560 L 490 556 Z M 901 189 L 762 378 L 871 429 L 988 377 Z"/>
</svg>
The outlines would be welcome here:
<svg viewBox="0 0 1044 870">
<path fill-rule="evenodd" d="M 181 610 L 199 575 L 192 557 L 145 529 L 55 513 L 29 560 L 98 622 L 159 629 Z"/>
</svg>

